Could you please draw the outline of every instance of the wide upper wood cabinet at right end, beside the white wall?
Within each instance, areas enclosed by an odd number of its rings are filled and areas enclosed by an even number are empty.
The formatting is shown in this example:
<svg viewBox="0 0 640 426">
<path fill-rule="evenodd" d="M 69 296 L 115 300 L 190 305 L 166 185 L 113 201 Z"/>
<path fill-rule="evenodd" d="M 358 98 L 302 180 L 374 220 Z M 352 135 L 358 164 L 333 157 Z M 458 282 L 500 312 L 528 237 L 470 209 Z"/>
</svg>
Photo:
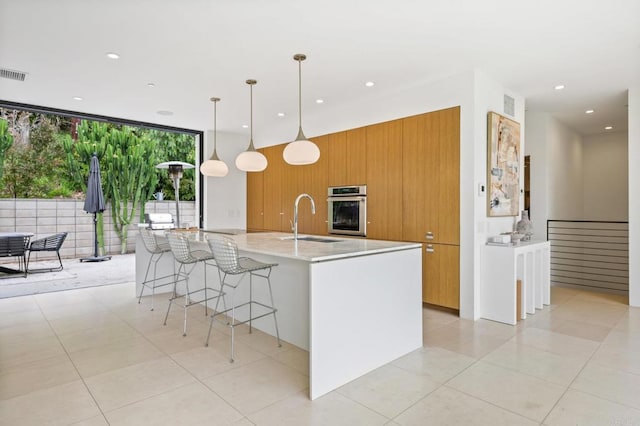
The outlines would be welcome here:
<svg viewBox="0 0 640 426">
<path fill-rule="evenodd" d="M 402 120 L 402 238 L 460 242 L 460 108 Z"/>
</svg>

